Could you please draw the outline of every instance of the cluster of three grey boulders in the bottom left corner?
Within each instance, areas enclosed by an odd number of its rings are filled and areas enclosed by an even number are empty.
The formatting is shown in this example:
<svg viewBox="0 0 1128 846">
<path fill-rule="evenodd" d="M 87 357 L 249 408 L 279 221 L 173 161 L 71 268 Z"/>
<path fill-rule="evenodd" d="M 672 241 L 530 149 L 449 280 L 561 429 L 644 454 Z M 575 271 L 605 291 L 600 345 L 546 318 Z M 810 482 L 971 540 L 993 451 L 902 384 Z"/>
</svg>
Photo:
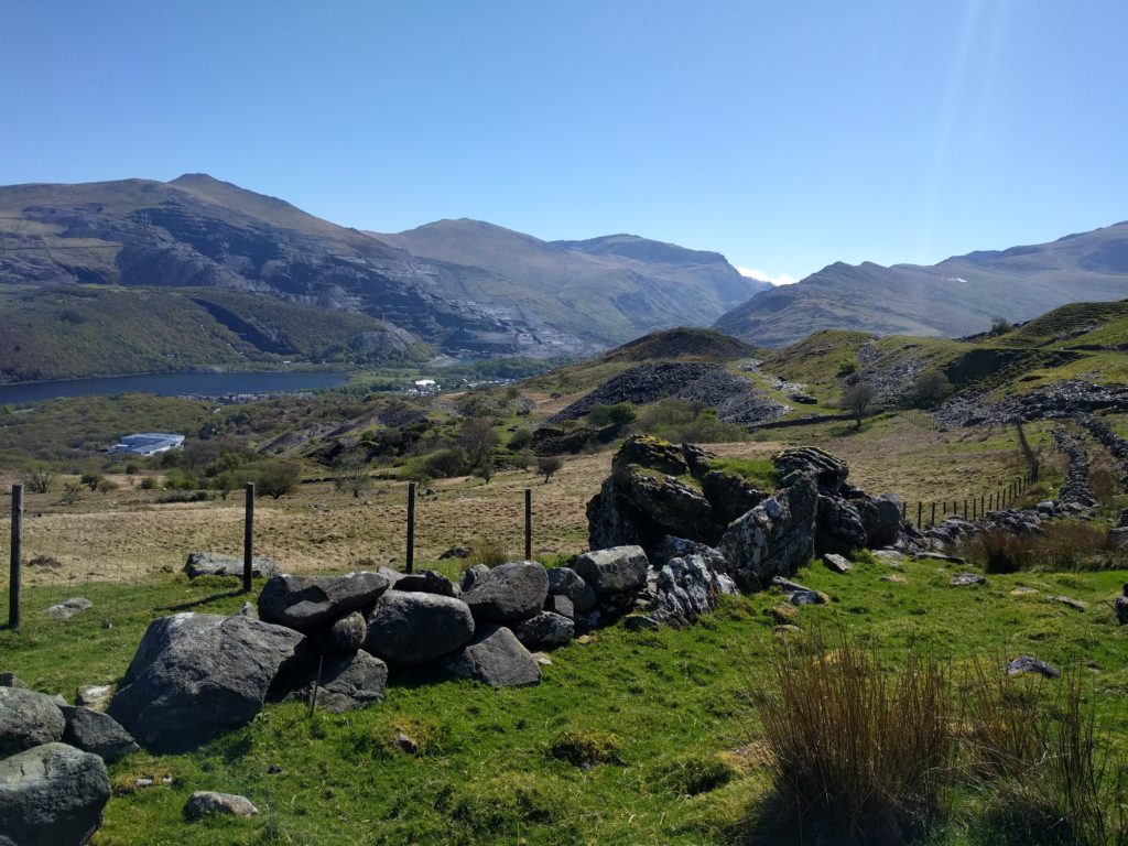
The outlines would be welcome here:
<svg viewBox="0 0 1128 846">
<path fill-rule="evenodd" d="M 80 846 L 109 800 L 106 763 L 138 744 L 106 714 L 0 686 L 0 844 Z"/>
</svg>

